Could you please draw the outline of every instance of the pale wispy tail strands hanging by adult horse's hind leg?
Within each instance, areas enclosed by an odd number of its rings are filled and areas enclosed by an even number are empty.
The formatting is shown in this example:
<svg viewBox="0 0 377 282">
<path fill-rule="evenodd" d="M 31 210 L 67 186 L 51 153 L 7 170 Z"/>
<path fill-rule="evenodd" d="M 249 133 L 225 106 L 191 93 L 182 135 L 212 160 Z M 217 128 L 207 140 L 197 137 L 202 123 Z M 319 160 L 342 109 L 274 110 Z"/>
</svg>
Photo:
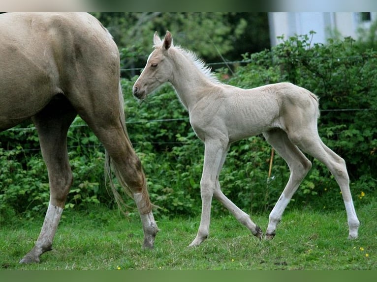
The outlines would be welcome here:
<svg viewBox="0 0 377 282">
<path fill-rule="evenodd" d="M 122 93 L 122 85 L 119 83 L 119 117 L 120 121 L 124 130 L 124 133 L 126 137 L 128 138 L 128 133 L 126 129 L 126 117 L 125 117 L 125 111 L 124 111 L 124 98 L 123 98 L 123 93 Z M 131 149 L 133 151 L 133 147 L 131 142 L 129 142 Z M 133 151 L 134 152 L 134 151 Z M 137 156 L 135 155 L 137 158 Z M 140 213 L 145 214 L 149 213 L 152 210 L 152 204 L 149 199 L 149 194 L 148 194 L 148 189 L 147 189 L 147 182 L 145 179 L 145 175 L 143 172 L 143 169 L 141 169 L 141 174 L 142 174 L 142 185 L 141 185 L 141 195 L 142 195 L 142 202 L 145 203 L 144 206 L 141 207 Z M 122 171 L 118 168 L 115 162 L 113 162 L 113 159 L 111 158 L 110 154 L 105 150 L 105 183 L 106 183 L 106 188 L 107 188 L 107 182 L 110 184 L 110 188 L 112 191 L 112 194 L 114 195 L 115 201 L 119 207 L 119 209 L 125 213 L 125 207 L 126 204 L 123 200 L 123 197 L 119 194 L 113 178 L 112 178 L 112 170 L 115 173 L 116 178 L 118 179 L 119 184 L 122 186 L 123 190 L 126 192 L 126 194 L 134 199 L 134 192 L 130 189 L 128 186 L 126 179 L 123 176 Z M 108 179 L 107 179 L 108 178 Z"/>
</svg>

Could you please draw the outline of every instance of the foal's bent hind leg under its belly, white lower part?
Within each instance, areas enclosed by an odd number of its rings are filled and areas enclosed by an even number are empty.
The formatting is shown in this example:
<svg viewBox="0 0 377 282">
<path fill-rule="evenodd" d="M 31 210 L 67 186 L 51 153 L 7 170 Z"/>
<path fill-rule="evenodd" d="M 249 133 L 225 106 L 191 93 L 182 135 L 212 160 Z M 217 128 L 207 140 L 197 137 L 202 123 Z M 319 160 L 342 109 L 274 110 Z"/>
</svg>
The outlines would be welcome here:
<svg viewBox="0 0 377 282">
<path fill-rule="evenodd" d="M 286 206 L 303 178 L 311 169 L 312 164 L 297 146 L 288 139 L 287 134 L 283 130 L 273 129 L 263 133 L 263 135 L 285 160 L 290 170 L 289 180 L 283 193 L 270 213 L 265 238 L 272 239 L 275 236 L 276 227 L 282 219 Z"/>
</svg>

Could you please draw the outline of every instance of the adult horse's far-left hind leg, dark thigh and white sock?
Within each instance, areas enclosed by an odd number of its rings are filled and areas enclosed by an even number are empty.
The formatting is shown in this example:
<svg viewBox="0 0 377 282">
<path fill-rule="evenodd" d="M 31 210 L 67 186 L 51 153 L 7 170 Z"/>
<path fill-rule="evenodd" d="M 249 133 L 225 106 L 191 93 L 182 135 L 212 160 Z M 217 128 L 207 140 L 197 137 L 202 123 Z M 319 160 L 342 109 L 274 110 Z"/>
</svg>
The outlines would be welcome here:
<svg viewBox="0 0 377 282">
<path fill-rule="evenodd" d="M 20 263 L 39 262 L 39 256 L 52 250 L 66 196 L 73 177 L 68 162 L 66 136 L 76 116 L 65 99 L 54 100 L 32 119 L 39 135 L 42 156 L 46 163 L 50 185 L 50 202 L 35 246 Z"/>
</svg>

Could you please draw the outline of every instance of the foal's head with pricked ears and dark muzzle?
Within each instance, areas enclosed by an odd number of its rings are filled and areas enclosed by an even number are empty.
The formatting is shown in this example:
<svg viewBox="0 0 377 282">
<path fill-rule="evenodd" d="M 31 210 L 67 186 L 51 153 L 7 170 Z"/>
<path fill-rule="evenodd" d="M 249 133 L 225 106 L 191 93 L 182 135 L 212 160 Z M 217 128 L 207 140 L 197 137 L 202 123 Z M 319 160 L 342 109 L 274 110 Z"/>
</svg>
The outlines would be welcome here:
<svg viewBox="0 0 377 282">
<path fill-rule="evenodd" d="M 132 88 L 133 95 L 138 99 L 146 98 L 158 86 L 167 82 L 173 74 L 173 63 L 167 56 L 170 47 L 173 46 L 170 32 L 166 31 L 163 41 L 155 32 L 153 42 L 155 50 L 149 55 L 144 70 Z"/>
</svg>

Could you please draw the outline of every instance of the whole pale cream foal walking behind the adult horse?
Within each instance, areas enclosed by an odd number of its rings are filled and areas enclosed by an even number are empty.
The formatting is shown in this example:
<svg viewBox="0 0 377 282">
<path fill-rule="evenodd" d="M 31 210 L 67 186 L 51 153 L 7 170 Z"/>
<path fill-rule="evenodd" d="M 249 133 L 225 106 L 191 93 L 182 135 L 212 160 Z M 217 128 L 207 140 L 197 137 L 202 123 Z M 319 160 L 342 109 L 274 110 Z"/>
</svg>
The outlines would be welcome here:
<svg viewBox="0 0 377 282">
<path fill-rule="evenodd" d="M 270 213 L 265 238 L 272 239 L 275 236 L 285 207 L 311 169 L 311 162 L 301 150 L 324 163 L 335 176 L 346 205 L 348 238 L 357 238 L 359 220 L 349 191 L 346 163 L 318 136 L 318 99 L 313 93 L 290 83 L 248 90 L 221 84 L 193 53 L 173 46 L 169 31 L 163 41 L 155 33 L 154 51 L 133 85 L 133 94 L 139 99 L 145 99 L 165 82 L 175 88 L 188 110 L 193 130 L 205 143 L 200 181 L 201 220 L 190 246 L 200 245 L 209 234 L 212 197 L 218 199 L 253 235 L 262 237 L 262 230 L 247 213 L 225 197 L 219 183 L 229 144 L 260 133 L 263 133 L 290 169 L 288 183 Z"/>
</svg>

